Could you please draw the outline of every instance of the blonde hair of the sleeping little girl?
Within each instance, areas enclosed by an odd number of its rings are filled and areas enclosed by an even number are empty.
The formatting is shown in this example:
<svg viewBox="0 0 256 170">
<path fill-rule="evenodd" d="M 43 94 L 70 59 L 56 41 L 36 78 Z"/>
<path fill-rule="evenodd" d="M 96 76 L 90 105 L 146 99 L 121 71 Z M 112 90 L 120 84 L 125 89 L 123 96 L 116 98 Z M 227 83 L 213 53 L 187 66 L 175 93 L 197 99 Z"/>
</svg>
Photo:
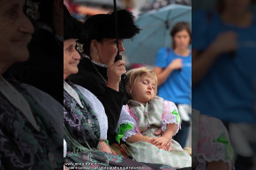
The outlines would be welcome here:
<svg viewBox="0 0 256 170">
<path fill-rule="evenodd" d="M 139 80 L 142 76 L 147 75 L 151 78 L 155 79 L 155 88 L 154 88 L 154 95 L 157 93 L 157 77 L 153 70 L 150 70 L 146 67 L 139 67 L 137 69 L 132 69 L 126 72 L 127 76 L 127 83 L 125 90 L 128 94 L 130 94 L 129 89 Z"/>
</svg>

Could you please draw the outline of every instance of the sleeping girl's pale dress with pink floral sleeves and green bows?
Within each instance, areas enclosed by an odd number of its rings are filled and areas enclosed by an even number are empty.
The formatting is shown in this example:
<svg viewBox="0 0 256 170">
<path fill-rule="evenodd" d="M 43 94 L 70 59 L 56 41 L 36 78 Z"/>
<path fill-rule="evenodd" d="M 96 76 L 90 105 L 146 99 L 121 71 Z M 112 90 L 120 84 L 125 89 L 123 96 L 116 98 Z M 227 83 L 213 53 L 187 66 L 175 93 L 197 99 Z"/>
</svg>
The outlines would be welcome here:
<svg viewBox="0 0 256 170">
<path fill-rule="evenodd" d="M 176 123 L 178 131 L 180 129 L 180 117 L 173 102 L 156 97 L 147 102 L 146 106 L 143 106 L 135 100 L 129 100 L 125 109 L 129 116 L 125 116 L 124 112 L 121 114 L 117 125 L 117 141 L 122 138 L 126 142 L 133 159 L 139 162 L 166 164 L 175 168 L 192 166 L 191 156 L 184 152 L 175 140 L 172 140 L 173 151 L 171 152 L 159 149 L 154 144 L 147 142 L 129 143 L 126 141 L 127 137 L 136 134 L 156 137 L 154 135 L 155 130 L 162 128 L 165 131 L 166 125 L 169 123 Z"/>
</svg>

